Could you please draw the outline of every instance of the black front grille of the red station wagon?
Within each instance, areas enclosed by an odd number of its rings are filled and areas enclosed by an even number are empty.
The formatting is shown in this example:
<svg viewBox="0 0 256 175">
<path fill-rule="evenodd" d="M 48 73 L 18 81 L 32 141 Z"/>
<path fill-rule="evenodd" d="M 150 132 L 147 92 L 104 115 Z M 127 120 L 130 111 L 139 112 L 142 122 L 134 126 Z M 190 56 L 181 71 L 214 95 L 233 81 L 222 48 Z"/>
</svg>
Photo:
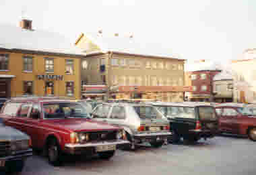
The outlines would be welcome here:
<svg viewBox="0 0 256 175">
<path fill-rule="evenodd" d="M 108 141 L 116 138 L 117 131 L 100 131 L 89 133 L 89 141 Z"/>
</svg>

